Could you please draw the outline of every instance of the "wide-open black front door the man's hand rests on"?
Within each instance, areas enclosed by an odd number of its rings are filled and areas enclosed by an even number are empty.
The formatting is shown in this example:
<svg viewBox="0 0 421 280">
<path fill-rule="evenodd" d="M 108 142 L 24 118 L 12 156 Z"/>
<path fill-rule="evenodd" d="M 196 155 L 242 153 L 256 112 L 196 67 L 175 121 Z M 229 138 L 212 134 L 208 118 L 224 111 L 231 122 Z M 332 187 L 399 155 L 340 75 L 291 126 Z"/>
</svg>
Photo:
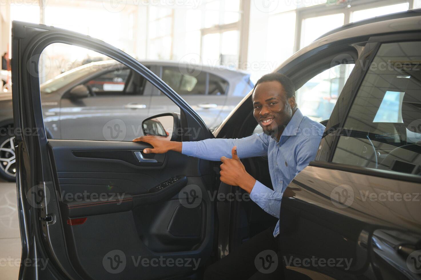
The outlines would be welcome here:
<svg viewBox="0 0 421 280">
<path fill-rule="evenodd" d="M 19 279 L 163 279 L 200 271 L 213 245 L 213 204 L 201 195 L 213 188 L 209 162 L 177 152 L 143 155 L 146 143 L 49 139 L 43 106 L 52 102 L 40 94 L 41 53 L 67 44 L 128 67 L 179 107 L 180 141 L 211 137 L 205 123 L 146 67 L 101 40 L 13 21 L 12 41 L 22 259 L 45 264 L 22 265 Z"/>
</svg>

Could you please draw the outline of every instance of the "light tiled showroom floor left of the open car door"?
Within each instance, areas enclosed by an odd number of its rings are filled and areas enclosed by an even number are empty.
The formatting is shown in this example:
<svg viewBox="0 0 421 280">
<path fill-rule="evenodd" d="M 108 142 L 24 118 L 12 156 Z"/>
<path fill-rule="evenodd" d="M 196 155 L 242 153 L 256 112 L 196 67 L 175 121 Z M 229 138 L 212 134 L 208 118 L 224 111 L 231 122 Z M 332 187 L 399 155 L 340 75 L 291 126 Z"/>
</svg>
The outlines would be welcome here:
<svg viewBox="0 0 421 280">
<path fill-rule="evenodd" d="M 16 184 L 0 180 L 0 278 L 17 279 L 21 237 L 16 205 Z"/>
</svg>

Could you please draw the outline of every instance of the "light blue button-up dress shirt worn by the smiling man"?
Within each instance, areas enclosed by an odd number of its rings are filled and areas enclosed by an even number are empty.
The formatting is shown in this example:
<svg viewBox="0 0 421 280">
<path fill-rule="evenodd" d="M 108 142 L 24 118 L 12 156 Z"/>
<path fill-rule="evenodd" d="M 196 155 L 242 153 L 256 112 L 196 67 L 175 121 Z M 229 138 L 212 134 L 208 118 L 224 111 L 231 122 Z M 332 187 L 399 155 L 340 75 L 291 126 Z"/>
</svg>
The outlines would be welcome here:
<svg viewBox="0 0 421 280">
<path fill-rule="evenodd" d="M 250 198 L 264 211 L 279 219 L 282 195 L 292 179 L 314 160 L 325 126 L 303 116 L 296 110 L 279 142 L 260 133 L 241 139 L 206 139 L 183 142 L 182 153 L 205 160 L 219 161 L 222 156 L 232 157 L 237 146 L 241 158 L 267 155 L 273 190 L 256 181 Z M 279 220 L 273 235 L 279 235 Z"/>
</svg>

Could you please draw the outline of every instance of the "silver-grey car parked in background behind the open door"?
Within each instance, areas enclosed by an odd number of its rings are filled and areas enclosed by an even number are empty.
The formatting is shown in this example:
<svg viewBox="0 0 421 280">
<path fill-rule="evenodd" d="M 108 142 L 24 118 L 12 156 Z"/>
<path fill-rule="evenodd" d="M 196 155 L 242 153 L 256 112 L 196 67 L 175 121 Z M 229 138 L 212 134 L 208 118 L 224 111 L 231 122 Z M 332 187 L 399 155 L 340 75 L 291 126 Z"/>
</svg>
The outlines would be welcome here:
<svg viewBox="0 0 421 280">
<path fill-rule="evenodd" d="M 225 67 L 173 61 L 141 63 L 186 100 L 210 129 L 218 126 L 254 86 L 247 72 Z M 131 141 L 142 135 L 145 118 L 180 112 L 141 75 L 114 60 L 91 62 L 66 71 L 41 84 L 40 92 L 50 139 Z M 13 180 L 16 172 L 11 107 L 11 94 L 3 94 L 0 176 L 8 180 Z"/>
</svg>

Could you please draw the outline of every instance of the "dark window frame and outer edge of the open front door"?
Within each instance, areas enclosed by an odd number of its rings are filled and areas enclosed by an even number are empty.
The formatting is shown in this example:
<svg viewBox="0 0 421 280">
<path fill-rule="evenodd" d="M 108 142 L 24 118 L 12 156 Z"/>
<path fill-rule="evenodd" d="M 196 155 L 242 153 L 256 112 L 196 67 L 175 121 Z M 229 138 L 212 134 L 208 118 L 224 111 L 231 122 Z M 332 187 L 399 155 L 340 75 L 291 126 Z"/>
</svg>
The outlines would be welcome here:
<svg viewBox="0 0 421 280">
<path fill-rule="evenodd" d="M 38 277 L 40 275 L 43 275 L 43 277 L 53 275 L 57 279 L 62 279 L 63 277 L 82 279 L 69 262 L 66 240 L 64 239 L 62 230 L 61 232 L 48 232 L 45 234 L 40 229 L 40 221 L 45 223 L 51 221 L 45 220 L 47 219 L 45 215 L 39 215 L 38 209 L 31 207 L 30 203 L 32 199 L 35 199 L 35 197 L 30 197 L 34 187 L 35 191 L 45 189 L 54 180 L 53 171 L 49 164 L 51 158 L 49 158 L 47 151 L 48 139 L 43 123 L 39 73 L 37 72 L 40 54 L 46 46 L 52 43 L 77 45 L 97 51 L 119 61 L 126 67 L 136 71 L 139 75 L 145 77 L 149 83 L 162 91 L 180 107 L 181 129 L 183 131 L 187 131 L 187 128 L 190 127 L 197 127 L 199 131 L 195 140 L 212 137 L 205 123 L 192 107 L 168 87 L 168 85 L 163 83 L 154 73 L 147 69 L 147 67 L 144 67 L 139 61 L 133 59 L 123 51 L 101 40 L 76 32 L 40 24 L 13 21 L 12 49 L 14 56 L 12 59 L 12 74 L 13 77 L 18 77 L 16 81 L 21 81 L 21 83 L 13 83 L 14 125 L 15 128 L 19 128 L 21 131 L 24 131 L 25 128 L 33 128 L 34 130 L 29 133 L 16 135 L 14 143 L 18 167 L 16 184 L 22 241 L 21 258 L 50 259 L 48 256 L 54 256 L 53 259 L 60 261 L 59 263 L 55 263 L 55 265 L 51 265 L 51 262 L 49 263 L 47 269 L 50 275 L 46 275 L 45 271 L 41 273 L 40 268 L 37 266 L 21 266 L 19 279 L 39 279 Z M 22 45 L 26 45 L 26 48 L 22 49 Z M 181 140 L 193 140 L 189 134 L 181 134 Z M 30 188 L 30 186 L 34 187 Z M 48 192 L 45 192 L 43 199 L 44 201 L 40 205 L 45 208 L 45 212 L 59 212 L 57 201 L 48 205 L 45 204 L 46 200 L 55 200 L 54 196 L 49 196 Z M 47 209 L 47 207 L 50 209 Z M 60 271 L 56 268 L 60 269 Z"/>
</svg>

